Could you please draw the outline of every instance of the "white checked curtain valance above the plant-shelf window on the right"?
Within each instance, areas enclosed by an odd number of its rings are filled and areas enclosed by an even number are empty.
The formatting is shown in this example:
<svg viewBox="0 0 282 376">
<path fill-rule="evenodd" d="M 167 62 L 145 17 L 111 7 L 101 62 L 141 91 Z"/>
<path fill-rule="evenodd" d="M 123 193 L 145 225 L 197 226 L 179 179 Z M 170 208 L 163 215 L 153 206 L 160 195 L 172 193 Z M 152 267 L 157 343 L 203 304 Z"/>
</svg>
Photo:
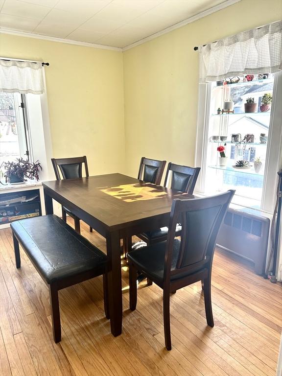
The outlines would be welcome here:
<svg viewBox="0 0 282 376">
<path fill-rule="evenodd" d="M 199 47 L 200 83 L 282 70 L 282 21 Z"/>
</svg>

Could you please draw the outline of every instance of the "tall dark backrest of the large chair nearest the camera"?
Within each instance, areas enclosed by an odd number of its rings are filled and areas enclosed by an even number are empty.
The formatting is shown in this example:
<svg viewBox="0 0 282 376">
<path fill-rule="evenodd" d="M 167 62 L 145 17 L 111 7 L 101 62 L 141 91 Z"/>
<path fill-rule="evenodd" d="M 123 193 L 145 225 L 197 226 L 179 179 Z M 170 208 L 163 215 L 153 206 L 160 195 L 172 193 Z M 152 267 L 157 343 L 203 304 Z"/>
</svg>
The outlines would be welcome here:
<svg viewBox="0 0 282 376">
<path fill-rule="evenodd" d="M 177 278 L 211 265 L 215 240 L 235 190 L 216 196 L 188 200 L 175 199 L 170 212 L 164 278 Z M 181 242 L 175 269 L 171 270 L 172 248 L 177 222 L 181 223 Z"/>
</svg>

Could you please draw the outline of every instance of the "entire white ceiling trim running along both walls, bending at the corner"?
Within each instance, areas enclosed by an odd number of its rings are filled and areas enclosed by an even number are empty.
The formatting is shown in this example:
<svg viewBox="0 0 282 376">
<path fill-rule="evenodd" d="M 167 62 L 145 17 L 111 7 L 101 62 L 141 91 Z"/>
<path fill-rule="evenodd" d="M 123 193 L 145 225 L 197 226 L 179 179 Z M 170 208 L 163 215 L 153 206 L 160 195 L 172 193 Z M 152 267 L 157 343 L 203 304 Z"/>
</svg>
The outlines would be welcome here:
<svg viewBox="0 0 282 376">
<path fill-rule="evenodd" d="M 18 35 L 21 37 L 27 37 L 27 38 L 35 38 L 35 39 L 43 39 L 51 42 L 59 42 L 59 43 L 67 43 L 70 45 L 77 45 L 77 46 L 84 46 L 84 47 L 94 47 L 94 48 L 100 48 L 100 49 L 109 49 L 113 51 L 126 51 L 127 49 L 139 46 L 143 43 L 146 43 L 148 41 L 151 41 L 152 39 L 158 38 L 159 36 L 169 33 L 172 30 L 178 29 L 179 27 L 185 26 L 187 24 L 190 24 L 194 21 L 199 20 L 200 18 L 206 17 L 214 12 L 217 12 L 218 10 L 224 9 L 227 6 L 233 5 L 236 2 L 239 2 L 241 0 L 226 0 L 222 2 L 221 4 L 215 5 L 211 7 L 210 9 L 207 9 L 203 12 L 200 12 L 192 17 L 189 17 L 188 19 L 181 21 L 177 24 L 174 24 L 172 26 L 166 27 L 164 30 L 158 31 L 155 34 L 152 34 L 146 38 L 141 39 L 140 41 L 134 42 L 131 45 L 125 46 L 125 47 L 111 47 L 111 46 L 103 46 L 103 45 L 96 45 L 94 43 L 87 43 L 87 42 L 79 42 L 79 41 L 73 41 L 71 39 L 64 39 L 64 38 L 57 38 L 57 37 L 49 37 L 47 35 L 41 35 L 41 34 L 35 34 L 35 33 L 28 33 L 25 31 L 19 31 L 19 30 L 13 30 L 13 29 L 6 29 L 0 27 L 0 34 L 11 34 L 11 35 Z"/>
</svg>

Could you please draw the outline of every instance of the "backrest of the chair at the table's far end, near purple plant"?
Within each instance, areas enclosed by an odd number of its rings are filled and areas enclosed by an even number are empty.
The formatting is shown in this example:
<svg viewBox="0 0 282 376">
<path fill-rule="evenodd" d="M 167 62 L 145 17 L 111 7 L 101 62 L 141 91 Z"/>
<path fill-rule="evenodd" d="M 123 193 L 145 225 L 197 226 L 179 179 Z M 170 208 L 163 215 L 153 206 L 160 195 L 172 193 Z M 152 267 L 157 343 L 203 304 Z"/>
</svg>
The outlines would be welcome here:
<svg viewBox="0 0 282 376">
<path fill-rule="evenodd" d="M 82 178 L 83 163 L 86 176 L 89 176 L 86 156 L 74 158 L 51 158 L 51 161 L 57 180 L 61 180 L 60 171 L 63 179 Z"/>
</svg>

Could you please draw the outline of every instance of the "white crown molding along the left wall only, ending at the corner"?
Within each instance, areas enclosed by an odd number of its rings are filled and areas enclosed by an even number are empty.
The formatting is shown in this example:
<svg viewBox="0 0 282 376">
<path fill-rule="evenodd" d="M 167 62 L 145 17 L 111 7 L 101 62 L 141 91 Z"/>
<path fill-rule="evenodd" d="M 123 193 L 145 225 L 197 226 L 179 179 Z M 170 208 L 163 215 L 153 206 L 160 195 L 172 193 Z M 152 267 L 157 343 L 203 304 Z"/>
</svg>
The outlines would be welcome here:
<svg viewBox="0 0 282 376">
<path fill-rule="evenodd" d="M 12 29 L 5 29 L 3 27 L 0 27 L 0 34 L 11 34 L 11 35 L 18 35 L 20 37 L 27 37 L 27 38 L 34 38 L 34 39 L 43 39 L 43 40 L 51 41 L 51 42 L 67 43 L 69 45 L 84 46 L 84 47 L 94 47 L 94 48 L 108 49 L 108 50 L 120 51 L 120 52 L 122 51 L 122 48 L 120 48 L 120 47 L 95 45 L 94 43 L 73 41 L 71 39 L 64 39 L 64 38 L 57 38 L 57 37 L 48 37 L 46 35 L 27 33 L 25 31 L 18 31 L 18 30 L 12 30 Z"/>
</svg>

